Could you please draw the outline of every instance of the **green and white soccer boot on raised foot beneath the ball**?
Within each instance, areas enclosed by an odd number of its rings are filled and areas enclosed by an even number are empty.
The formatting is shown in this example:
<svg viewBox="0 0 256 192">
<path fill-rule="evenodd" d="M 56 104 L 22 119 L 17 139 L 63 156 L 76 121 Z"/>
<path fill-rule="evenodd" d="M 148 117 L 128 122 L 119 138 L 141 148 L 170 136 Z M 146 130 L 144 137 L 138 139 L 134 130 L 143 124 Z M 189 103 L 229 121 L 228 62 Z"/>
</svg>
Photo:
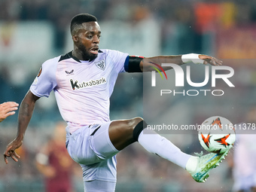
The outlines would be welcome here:
<svg viewBox="0 0 256 192">
<path fill-rule="evenodd" d="M 210 153 L 200 157 L 190 157 L 186 165 L 187 172 L 190 173 L 195 181 L 205 182 L 206 178 L 209 177 L 209 171 L 219 166 L 227 153 L 228 151 L 224 154 Z"/>
</svg>

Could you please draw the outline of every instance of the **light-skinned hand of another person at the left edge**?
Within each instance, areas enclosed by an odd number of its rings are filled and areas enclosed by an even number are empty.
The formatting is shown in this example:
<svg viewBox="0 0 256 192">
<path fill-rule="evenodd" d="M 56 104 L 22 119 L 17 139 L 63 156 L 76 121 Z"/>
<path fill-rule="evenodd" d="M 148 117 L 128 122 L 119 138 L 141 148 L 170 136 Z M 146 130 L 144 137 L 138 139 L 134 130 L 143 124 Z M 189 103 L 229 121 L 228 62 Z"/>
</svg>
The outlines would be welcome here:
<svg viewBox="0 0 256 192">
<path fill-rule="evenodd" d="M 17 102 L 4 102 L 0 104 L 0 122 L 5 120 L 6 117 L 15 114 L 18 106 Z"/>
</svg>

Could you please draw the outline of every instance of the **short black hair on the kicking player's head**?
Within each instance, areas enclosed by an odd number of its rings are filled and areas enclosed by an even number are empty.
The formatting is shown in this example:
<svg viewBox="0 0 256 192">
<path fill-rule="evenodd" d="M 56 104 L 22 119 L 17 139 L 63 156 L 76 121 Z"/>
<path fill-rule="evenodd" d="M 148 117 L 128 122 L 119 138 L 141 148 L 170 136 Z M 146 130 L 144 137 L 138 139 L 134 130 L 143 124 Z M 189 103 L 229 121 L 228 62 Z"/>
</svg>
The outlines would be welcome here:
<svg viewBox="0 0 256 192">
<path fill-rule="evenodd" d="M 74 32 L 77 26 L 80 26 L 82 23 L 87 23 L 91 21 L 97 21 L 97 18 L 91 14 L 77 14 L 72 18 L 70 23 L 70 32 Z"/>
</svg>

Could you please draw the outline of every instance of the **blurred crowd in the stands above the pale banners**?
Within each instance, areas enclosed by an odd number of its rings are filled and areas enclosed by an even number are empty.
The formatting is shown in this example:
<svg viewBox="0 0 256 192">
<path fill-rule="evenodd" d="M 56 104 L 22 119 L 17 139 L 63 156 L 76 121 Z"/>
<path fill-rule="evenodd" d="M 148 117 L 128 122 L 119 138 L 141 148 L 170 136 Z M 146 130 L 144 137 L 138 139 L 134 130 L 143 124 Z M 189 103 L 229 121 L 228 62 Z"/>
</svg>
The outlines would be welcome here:
<svg viewBox="0 0 256 192">
<path fill-rule="evenodd" d="M 178 23 L 180 27 L 194 31 L 194 41 L 200 40 L 200 34 L 219 28 L 228 28 L 234 25 L 246 25 L 256 21 L 255 1 L 172 1 L 165 0 L 2 0 L 0 6 L 0 20 L 4 22 L 19 22 L 26 20 L 47 20 L 53 23 L 56 29 L 56 48 L 63 47 L 63 35 L 69 26 L 71 18 L 78 13 L 90 13 L 99 21 L 121 20 L 136 23 L 154 17 L 163 28 L 163 48 L 168 47 L 166 38 L 169 36 L 170 23 Z M 191 34 L 190 34 L 191 35 Z M 181 52 L 193 50 L 200 52 L 200 42 L 194 47 L 187 47 L 186 34 L 180 39 Z M 193 37 L 193 36 L 192 36 Z M 190 38 L 192 38 L 190 36 Z M 187 37 L 189 38 L 189 37 Z M 198 39 L 197 39 L 198 38 Z M 167 41 L 168 42 L 168 41 Z"/>
</svg>

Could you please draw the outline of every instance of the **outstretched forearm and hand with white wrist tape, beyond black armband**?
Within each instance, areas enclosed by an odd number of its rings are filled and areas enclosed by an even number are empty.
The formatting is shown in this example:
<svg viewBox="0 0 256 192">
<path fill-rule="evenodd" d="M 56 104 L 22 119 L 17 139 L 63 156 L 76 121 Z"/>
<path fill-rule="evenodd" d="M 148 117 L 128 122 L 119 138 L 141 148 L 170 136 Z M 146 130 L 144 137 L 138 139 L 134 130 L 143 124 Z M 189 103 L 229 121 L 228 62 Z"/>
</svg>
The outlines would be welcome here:
<svg viewBox="0 0 256 192">
<path fill-rule="evenodd" d="M 152 70 L 154 70 L 153 67 L 157 67 L 157 65 L 162 66 L 162 63 L 172 63 L 180 66 L 188 62 L 194 62 L 195 64 L 204 64 L 204 65 L 210 64 L 212 66 L 220 66 L 222 64 L 221 60 L 216 59 L 213 56 L 190 53 L 190 54 L 177 55 L 177 56 L 145 57 L 140 62 L 140 68 L 142 72 L 151 72 Z M 172 67 L 170 66 L 162 66 L 162 68 L 164 70 L 172 69 Z"/>
</svg>

